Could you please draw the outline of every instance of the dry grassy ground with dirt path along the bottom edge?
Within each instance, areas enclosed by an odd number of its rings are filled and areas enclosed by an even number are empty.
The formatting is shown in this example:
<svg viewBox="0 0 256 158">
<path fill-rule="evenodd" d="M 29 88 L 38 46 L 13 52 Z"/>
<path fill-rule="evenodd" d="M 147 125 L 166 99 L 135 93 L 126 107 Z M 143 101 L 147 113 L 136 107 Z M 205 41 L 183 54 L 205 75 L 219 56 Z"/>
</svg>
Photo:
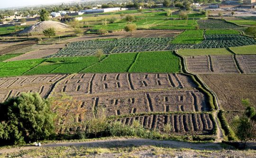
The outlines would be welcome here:
<svg viewBox="0 0 256 158">
<path fill-rule="evenodd" d="M 41 147 L 0 149 L 0 157 L 15 158 L 255 158 L 255 150 L 234 150 L 219 143 L 157 141 L 117 138 L 80 142 L 48 143 Z"/>
</svg>

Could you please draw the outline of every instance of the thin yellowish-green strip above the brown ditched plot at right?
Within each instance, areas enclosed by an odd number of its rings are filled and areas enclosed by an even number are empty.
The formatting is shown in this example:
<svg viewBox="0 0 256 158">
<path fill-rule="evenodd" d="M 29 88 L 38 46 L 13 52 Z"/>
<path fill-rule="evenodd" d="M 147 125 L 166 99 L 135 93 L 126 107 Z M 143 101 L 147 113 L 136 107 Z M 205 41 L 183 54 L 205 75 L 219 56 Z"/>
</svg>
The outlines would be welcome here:
<svg viewBox="0 0 256 158">
<path fill-rule="evenodd" d="M 232 55 L 226 48 L 177 50 L 183 56 L 189 55 Z"/>
</svg>

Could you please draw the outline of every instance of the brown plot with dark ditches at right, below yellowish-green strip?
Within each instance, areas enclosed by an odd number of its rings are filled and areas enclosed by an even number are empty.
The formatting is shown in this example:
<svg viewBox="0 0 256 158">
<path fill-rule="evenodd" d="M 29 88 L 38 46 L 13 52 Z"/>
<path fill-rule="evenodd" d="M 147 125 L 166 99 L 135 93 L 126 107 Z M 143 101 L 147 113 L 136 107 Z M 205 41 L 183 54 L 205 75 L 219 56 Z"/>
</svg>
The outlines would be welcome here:
<svg viewBox="0 0 256 158">
<path fill-rule="evenodd" d="M 189 71 L 196 74 L 255 74 L 256 55 L 185 56 Z"/>
</svg>

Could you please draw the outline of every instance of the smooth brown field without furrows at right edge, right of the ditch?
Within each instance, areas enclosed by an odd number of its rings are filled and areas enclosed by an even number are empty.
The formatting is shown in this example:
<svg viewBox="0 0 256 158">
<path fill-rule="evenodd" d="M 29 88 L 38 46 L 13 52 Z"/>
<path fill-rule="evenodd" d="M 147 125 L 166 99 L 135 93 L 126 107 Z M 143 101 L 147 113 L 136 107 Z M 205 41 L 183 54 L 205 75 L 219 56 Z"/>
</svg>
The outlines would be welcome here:
<svg viewBox="0 0 256 158">
<path fill-rule="evenodd" d="M 245 110 L 241 99 L 246 98 L 256 105 L 256 75 L 216 74 L 200 77 L 217 94 L 224 110 Z"/>
</svg>

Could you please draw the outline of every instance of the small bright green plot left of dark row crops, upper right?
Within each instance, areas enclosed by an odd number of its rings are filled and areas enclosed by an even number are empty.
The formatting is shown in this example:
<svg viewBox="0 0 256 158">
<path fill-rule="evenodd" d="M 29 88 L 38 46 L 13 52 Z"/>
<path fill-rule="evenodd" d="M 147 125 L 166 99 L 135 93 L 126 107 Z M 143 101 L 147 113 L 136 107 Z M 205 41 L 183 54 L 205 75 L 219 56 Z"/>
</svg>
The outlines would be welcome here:
<svg viewBox="0 0 256 158">
<path fill-rule="evenodd" d="M 173 44 L 197 44 L 203 41 L 203 30 L 185 30 L 174 38 Z"/>
</svg>

